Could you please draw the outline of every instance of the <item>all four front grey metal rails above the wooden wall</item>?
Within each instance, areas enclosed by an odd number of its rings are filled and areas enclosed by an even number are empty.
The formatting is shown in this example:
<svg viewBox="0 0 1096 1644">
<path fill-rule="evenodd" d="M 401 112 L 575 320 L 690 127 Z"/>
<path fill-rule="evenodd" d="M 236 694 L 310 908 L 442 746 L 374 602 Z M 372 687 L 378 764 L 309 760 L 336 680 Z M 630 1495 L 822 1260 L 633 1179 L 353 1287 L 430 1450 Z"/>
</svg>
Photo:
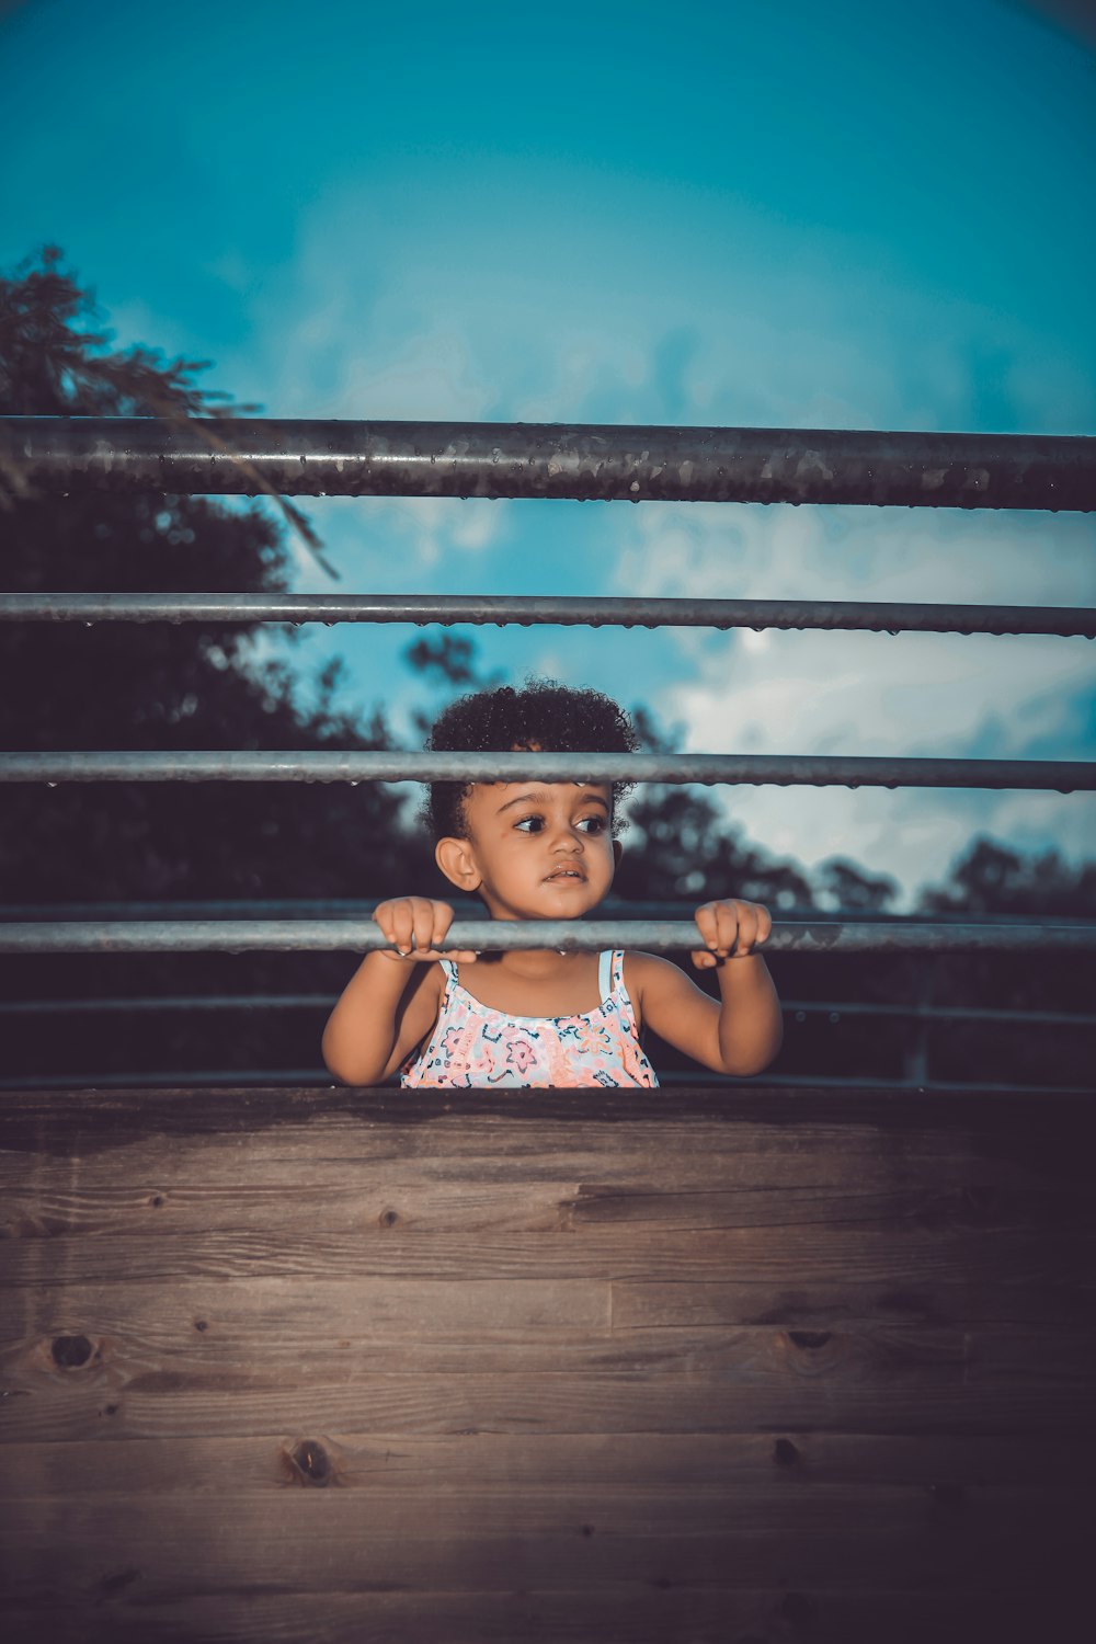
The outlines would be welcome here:
<svg viewBox="0 0 1096 1644">
<path fill-rule="evenodd" d="M 603 427 L 590 424 L 306 423 L 265 419 L 0 418 L 0 459 L 51 492 L 171 492 L 871 503 L 1096 510 L 1096 441 L 863 431 Z M 5 595 L 2 621 L 572 621 L 687 626 L 1096 633 L 1060 607 L 758 600 L 564 600 L 348 595 Z M 10 753 L 0 781 L 546 781 L 772 783 L 1096 789 L 1093 761 L 739 755 L 411 755 L 376 751 Z M 454 926 L 454 947 L 481 926 Z M 493 927 L 491 945 L 693 945 L 688 924 L 582 921 Z M 1088 952 L 1093 927 L 777 922 L 772 952 Z M 383 945 L 363 921 L 35 921 L 7 952 L 342 949 Z"/>
</svg>

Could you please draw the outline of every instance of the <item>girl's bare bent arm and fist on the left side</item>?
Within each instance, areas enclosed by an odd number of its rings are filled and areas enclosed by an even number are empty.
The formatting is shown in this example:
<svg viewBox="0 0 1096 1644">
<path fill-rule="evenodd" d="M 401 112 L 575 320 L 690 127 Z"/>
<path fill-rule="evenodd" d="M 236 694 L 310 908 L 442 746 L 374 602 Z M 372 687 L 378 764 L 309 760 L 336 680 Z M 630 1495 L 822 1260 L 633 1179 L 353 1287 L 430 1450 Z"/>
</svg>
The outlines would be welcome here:
<svg viewBox="0 0 1096 1644">
<path fill-rule="evenodd" d="M 437 1018 L 442 975 L 434 960 L 454 911 L 449 903 L 404 896 L 373 917 L 399 954 L 366 954 L 324 1029 L 324 1062 L 345 1085 L 375 1085 L 394 1074 Z M 403 955 L 403 957 L 401 957 Z M 475 954 L 445 954 L 470 962 Z"/>
</svg>

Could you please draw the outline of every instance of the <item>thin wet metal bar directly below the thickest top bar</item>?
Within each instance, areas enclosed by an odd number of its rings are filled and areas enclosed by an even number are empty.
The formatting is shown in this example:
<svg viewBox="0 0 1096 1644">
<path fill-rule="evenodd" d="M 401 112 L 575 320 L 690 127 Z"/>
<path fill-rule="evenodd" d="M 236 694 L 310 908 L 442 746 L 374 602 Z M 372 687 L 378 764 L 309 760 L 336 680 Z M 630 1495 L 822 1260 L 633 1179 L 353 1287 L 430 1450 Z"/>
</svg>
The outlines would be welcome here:
<svg viewBox="0 0 1096 1644">
<path fill-rule="evenodd" d="M 866 600 L 508 598 L 404 593 L 0 593 L 0 621 L 361 621 L 560 628 L 827 628 L 1096 638 L 1093 605 L 915 605 Z"/>
</svg>

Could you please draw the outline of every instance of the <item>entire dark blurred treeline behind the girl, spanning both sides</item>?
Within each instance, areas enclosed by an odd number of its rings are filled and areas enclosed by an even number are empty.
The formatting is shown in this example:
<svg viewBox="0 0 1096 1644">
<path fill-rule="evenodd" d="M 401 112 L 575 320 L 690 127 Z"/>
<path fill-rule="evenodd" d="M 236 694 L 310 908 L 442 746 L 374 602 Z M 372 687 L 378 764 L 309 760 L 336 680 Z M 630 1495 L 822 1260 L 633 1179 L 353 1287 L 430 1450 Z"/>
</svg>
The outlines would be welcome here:
<svg viewBox="0 0 1096 1644">
<path fill-rule="evenodd" d="M 92 298 L 54 250 L 0 278 L 0 414 L 232 416 L 253 413 L 199 386 L 200 362 L 150 349 L 113 350 Z M 278 516 L 278 510 L 286 518 Z M 248 592 L 289 585 L 286 529 L 311 538 L 284 501 L 225 506 L 200 496 L 31 495 L 0 467 L 3 585 L 54 592 Z M 319 544 L 314 544 L 319 551 Z M 72 623 L 0 625 L 0 745 L 8 750 L 381 748 L 383 713 L 368 722 L 338 709 L 338 664 L 314 681 L 301 707 L 284 664 L 256 663 L 253 626 Z M 408 648 L 408 666 L 455 694 L 481 684 L 475 643 L 437 630 Z M 667 748 L 642 704 L 624 704 L 651 748 Z M 338 783 L 18 784 L 0 789 L 0 906 L 169 903 L 189 917 L 202 901 L 350 899 L 363 914 L 396 889 L 449 896 L 432 847 L 408 822 L 398 791 Z M 615 896 L 697 903 L 738 894 L 779 916 L 841 909 L 886 914 L 897 886 L 853 861 L 808 876 L 744 842 L 697 789 L 651 786 L 629 804 L 626 853 Z M 13 912 L 18 909 L 18 914 Z M 923 896 L 942 916 L 1096 916 L 1096 863 L 1057 855 L 1024 860 L 991 840 L 971 842 L 948 881 Z M 301 909 L 302 912 L 306 909 Z M 357 911 L 357 909 L 355 909 Z M 246 909 L 260 916 L 261 909 Z M 161 909 L 164 917 L 171 916 Z M 125 917 L 110 909 L 110 917 Z M 687 960 L 685 960 L 687 963 Z M 319 1036 L 330 1000 L 355 960 L 347 954 L 0 955 L 5 1044 L 0 1077 L 94 1080 L 187 1072 L 320 1077 Z M 774 955 L 792 1008 L 772 1075 L 889 1082 L 1091 1083 L 1096 1032 L 1084 1024 L 1032 1024 L 1015 1011 L 1093 1008 L 1091 960 L 1040 955 L 881 958 Z M 710 978 L 705 978 L 705 985 Z M 150 1008 L 154 998 L 219 996 Z M 314 1003 L 235 1006 L 246 995 Z M 97 1008 L 62 1009 L 62 1001 Z M 107 1001 L 135 1001 L 112 1008 Z M 48 1006 L 46 1001 L 51 1001 Z M 825 1004 L 825 1009 L 810 1006 Z M 856 1014 L 848 1006 L 874 1006 Z M 902 1019 L 900 1004 L 978 1011 Z M 667 1075 L 674 1055 L 654 1047 Z"/>
</svg>

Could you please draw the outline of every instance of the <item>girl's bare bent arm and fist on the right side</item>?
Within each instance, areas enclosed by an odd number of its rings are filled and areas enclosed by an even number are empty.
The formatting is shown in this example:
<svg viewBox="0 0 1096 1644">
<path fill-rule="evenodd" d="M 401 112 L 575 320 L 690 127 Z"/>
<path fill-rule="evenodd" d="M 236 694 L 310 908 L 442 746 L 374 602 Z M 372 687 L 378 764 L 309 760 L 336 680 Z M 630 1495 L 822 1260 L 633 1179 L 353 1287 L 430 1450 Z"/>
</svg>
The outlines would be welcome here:
<svg viewBox="0 0 1096 1644">
<path fill-rule="evenodd" d="M 761 954 L 772 921 L 756 903 L 705 903 L 697 927 L 707 947 L 692 955 L 697 968 L 718 970 L 720 1003 L 677 965 L 636 954 L 636 1003 L 659 1037 L 716 1074 L 749 1075 L 769 1065 L 784 1039 L 781 1001 Z"/>
</svg>

